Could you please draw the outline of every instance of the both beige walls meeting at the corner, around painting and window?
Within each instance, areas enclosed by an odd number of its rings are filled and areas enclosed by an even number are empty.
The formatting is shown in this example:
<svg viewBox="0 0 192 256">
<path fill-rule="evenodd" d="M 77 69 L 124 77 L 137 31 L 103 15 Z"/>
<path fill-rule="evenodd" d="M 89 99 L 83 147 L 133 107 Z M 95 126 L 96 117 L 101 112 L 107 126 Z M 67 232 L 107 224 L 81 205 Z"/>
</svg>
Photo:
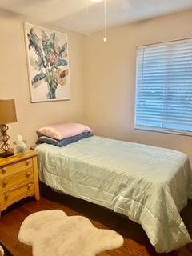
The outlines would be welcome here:
<svg viewBox="0 0 192 256">
<path fill-rule="evenodd" d="M 15 98 L 18 115 L 10 124 L 10 142 L 22 134 L 29 147 L 39 126 L 85 122 L 95 134 L 190 154 L 192 137 L 134 130 L 134 75 L 137 46 L 192 38 L 192 11 L 107 30 L 106 43 L 103 32 L 84 38 L 62 31 L 69 38 L 71 82 L 71 100 L 62 102 L 30 103 L 24 22 L 46 26 L 0 10 L 0 98 Z"/>
</svg>

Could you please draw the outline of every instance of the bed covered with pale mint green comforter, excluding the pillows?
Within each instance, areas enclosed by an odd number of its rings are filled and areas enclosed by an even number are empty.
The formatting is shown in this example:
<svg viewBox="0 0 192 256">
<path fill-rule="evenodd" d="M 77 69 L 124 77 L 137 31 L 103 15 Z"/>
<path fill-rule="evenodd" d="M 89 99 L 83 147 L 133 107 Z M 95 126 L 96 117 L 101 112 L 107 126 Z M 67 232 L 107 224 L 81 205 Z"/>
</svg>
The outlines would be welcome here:
<svg viewBox="0 0 192 256">
<path fill-rule="evenodd" d="M 140 223 L 158 253 L 191 242 L 179 214 L 192 198 L 186 154 L 95 135 L 35 150 L 42 182 Z"/>
</svg>

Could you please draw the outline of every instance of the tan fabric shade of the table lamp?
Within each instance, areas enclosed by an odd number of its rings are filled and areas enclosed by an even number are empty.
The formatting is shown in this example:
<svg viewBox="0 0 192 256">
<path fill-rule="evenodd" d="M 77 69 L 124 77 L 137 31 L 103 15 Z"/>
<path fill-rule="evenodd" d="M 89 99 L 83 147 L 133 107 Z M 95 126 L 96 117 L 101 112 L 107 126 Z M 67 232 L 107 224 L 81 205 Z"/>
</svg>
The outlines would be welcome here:
<svg viewBox="0 0 192 256">
<path fill-rule="evenodd" d="M 17 122 L 14 99 L 0 100 L 0 125 Z"/>
</svg>

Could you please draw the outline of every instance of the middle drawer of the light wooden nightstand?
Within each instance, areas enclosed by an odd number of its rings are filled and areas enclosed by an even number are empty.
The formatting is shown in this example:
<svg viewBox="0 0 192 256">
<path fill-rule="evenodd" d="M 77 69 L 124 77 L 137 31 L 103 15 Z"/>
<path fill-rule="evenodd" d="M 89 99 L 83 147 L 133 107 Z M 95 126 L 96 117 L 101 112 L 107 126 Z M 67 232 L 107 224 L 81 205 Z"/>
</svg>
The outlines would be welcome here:
<svg viewBox="0 0 192 256">
<path fill-rule="evenodd" d="M 0 193 L 6 190 L 10 190 L 21 184 L 29 183 L 34 180 L 33 169 L 24 170 L 14 176 L 7 176 L 0 180 Z"/>
</svg>

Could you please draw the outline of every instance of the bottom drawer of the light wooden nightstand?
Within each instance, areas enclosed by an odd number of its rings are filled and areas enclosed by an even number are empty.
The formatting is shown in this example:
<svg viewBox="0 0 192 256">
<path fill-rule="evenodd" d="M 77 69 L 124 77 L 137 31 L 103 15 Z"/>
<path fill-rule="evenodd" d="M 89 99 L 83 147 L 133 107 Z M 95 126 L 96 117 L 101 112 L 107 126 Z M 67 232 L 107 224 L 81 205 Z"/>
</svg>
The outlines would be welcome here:
<svg viewBox="0 0 192 256">
<path fill-rule="evenodd" d="M 34 183 L 29 182 L 25 186 L 20 186 L 18 189 L 7 190 L 5 193 L 0 194 L 0 205 L 2 210 L 6 209 L 12 203 L 17 202 L 22 198 L 34 195 Z"/>
</svg>

